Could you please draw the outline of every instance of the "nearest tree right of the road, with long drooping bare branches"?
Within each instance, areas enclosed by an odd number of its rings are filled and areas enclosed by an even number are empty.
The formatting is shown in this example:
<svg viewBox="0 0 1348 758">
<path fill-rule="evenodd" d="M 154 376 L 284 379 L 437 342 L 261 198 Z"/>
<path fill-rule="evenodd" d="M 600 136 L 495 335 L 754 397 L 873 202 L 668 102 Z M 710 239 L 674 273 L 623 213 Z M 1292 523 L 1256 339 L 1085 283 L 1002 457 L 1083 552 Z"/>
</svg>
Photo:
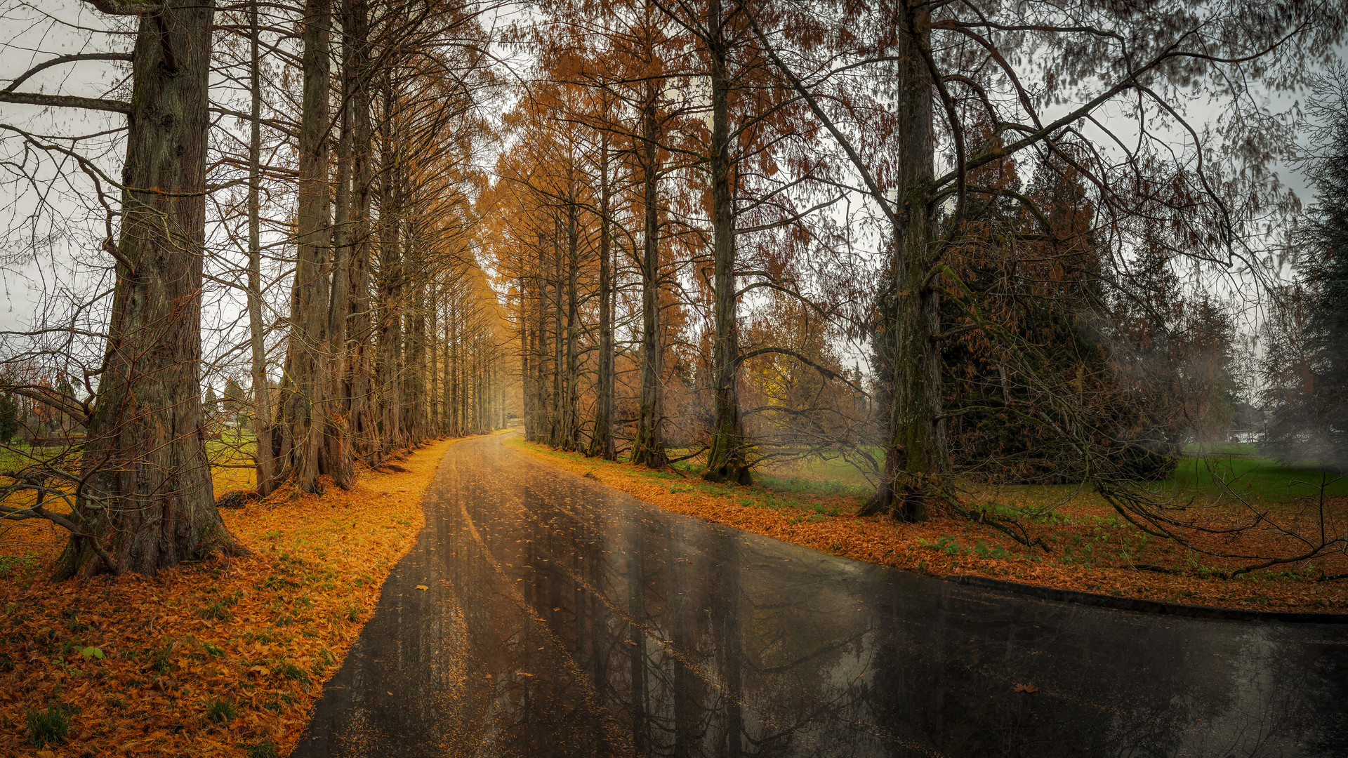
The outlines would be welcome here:
<svg viewBox="0 0 1348 758">
<path fill-rule="evenodd" d="M 1213 158 L 1220 152 L 1216 138 L 1189 121 L 1184 100 L 1194 82 L 1209 78 L 1268 86 L 1304 80 L 1305 51 L 1328 50 L 1317 46 L 1340 39 L 1341 9 L 1306 5 L 1278 15 L 1244 0 L 1147 9 L 1092 3 L 1068 15 L 1053 3 L 996 11 L 915 1 L 786 8 L 778 30 L 756 23 L 755 31 L 837 143 L 892 239 L 887 281 L 894 293 L 886 299 L 892 314 L 880 317 L 888 325 L 880 339 L 892 355 L 892 399 L 886 475 L 871 510 L 902 519 L 922 518 L 929 504 L 961 511 L 950 477 L 953 411 L 942 407 L 940 351 L 981 330 L 1014 359 L 1007 368 L 1018 374 L 1015 380 L 1037 388 L 1029 418 L 1070 440 L 1120 513 L 1151 526 L 1163 522 L 1131 473 L 1115 465 L 1108 430 L 1077 413 L 1070 386 L 1046 382 L 1050 375 L 1037 368 L 1047 364 L 1041 351 L 988 318 L 950 267 L 953 250 L 984 235 L 969 217 L 975 198 L 1015 198 L 1046 221 L 1031 198 L 983 186 L 973 175 L 1022 152 L 1065 158 L 1092 187 L 1111 264 L 1148 231 L 1190 262 L 1248 258 L 1254 251 L 1242 224 L 1267 205 L 1285 204 L 1277 185 L 1263 181 L 1270 158 L 1286 144 L 1279 142 L 1283 132 L 1233 98 L 1237 115 L 1223 121 L 1221 138 L 1267 150 L 1242 152 L 1233 158 L 1242 165 L 1224 167 Z M 1027 50 L 1033 55 L 1024 58 Z M 1255 80 L 1228 78 L 1231 66 L 1247 61 L 1259 61 Z M 1099 123 L 1101 108 L 1124 101 L 1131 111 L 1111 113 L 1111 120 L 1154 127 L 1142 128 L 1139 146 L 1126 146 L 1107 125 L 1103 132 L 1078 125 Z M 1046 108 L 1057 103 L 1073 105 L 1050 117 Z M 1189 135 L 1184 154 L 1157 129 Z M 1047 224 L 1038 233 L 1058 236 Z M 942 320 L 942 301 L 960 306 L 958 322 Z"/>
</svg>

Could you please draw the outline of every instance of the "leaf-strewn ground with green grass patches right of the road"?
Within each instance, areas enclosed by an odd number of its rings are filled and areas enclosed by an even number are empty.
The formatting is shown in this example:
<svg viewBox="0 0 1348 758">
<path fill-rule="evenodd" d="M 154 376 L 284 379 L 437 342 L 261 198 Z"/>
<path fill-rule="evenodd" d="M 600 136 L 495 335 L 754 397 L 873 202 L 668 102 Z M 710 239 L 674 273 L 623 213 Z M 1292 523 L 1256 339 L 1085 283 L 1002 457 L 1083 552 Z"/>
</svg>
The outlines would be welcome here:
<svg viewBox="0 0 1348 758">
<path fill-rule="evenodd" d="M 526 442 L 508 444 L 546 463 L 594 479 L 674 513 L 705 518 L 755 534 L 813 548 L 857 561 L 929 573 L 976 575 L 1196 606 L 1262 611 L 1348 612 L 1348 580 L 1317 581 L 1348 572 L 1343 552 L 1310 562 L 1286 564 L 1225 579 L 1225 571 L 1254 561 L 1223 560 L 1170 540 L 1146 534 L 1120 518 L 1099 496 L 1065 487 L 971 488 L 972 500 L 1008 507 L 1050 510 L 1022 519 L 1027 533 L 1047 545 L 1027 549 L 992 526 L 934 515 L 921 523 L 887 517 L 857 517 L 860 488 L 829 488 L 817 482 L 762 476 L 762 484 L 709 484 L 696 472 L 651 471 L 627 463 L 586 459 Z M 841 492 L 841 494 L 838 494 Z M 972 502 L 971 500 L 971 502 Z M 1246 498 L 1246 502 L 1251 502 Z M 1283 525 L 1304 533 L 1318 529 L 1318 510 L 1305 502 L 1255 503 Z M 1213 498 L 1196 500 L 1194 513 L 1208 527 L 1248 521 L 1246 506 Z M 1348 496 L 1325 499 L 1329 531 L 1343 534 Z M 1225 553 L 1297 554 L 1294 538 L 1267 529 L 1239 535 L 1190 534 L 1205 549 Z M 1159 571 L 1139 569 L 1153 566 Z"/>
</svg>

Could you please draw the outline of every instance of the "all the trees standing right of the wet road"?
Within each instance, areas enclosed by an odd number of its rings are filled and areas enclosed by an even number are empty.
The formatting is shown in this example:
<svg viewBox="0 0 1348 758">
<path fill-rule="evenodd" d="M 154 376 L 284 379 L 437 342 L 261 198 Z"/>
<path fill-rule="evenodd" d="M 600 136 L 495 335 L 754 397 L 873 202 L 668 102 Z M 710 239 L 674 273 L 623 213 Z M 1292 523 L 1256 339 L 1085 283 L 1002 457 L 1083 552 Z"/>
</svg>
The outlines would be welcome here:
<svg viewBox="0 0 1348 758">
<path fill-rule="evenodd" d="M 1084 480 L 1204 531 L 1147 482 L 1229 429 L 1220 293 L 1274 279 L 1267 223 L 1295 209 L 1271 174 L 1295 124 L 1239 93 L 1308 84 L 1341 9 L 545 9 L 491 243 L 532 438 L 741 483 L 826 449 L 874 475 L 869 513 L 1018 538 L 957 477 Z M 1208 131 L 1200 92 L 1229 108 Z"/>
</svg>

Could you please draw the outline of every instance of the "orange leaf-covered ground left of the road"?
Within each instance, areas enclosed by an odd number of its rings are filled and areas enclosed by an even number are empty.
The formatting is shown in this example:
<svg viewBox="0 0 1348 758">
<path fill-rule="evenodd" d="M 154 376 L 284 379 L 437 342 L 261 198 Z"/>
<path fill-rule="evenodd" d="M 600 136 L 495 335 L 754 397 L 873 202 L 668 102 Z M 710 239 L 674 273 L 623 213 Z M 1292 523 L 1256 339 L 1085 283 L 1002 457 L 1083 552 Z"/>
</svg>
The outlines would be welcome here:
<svg viewBox="0 0 1348 758">
<path fill-rule="evenodd" d="M 403 472 L 364 471 L 349 491 L 221 508 L 252 554 L 155 579 L 53 584 L 62 530 L 0 533 L 0 755 L 286 755 L 415 542 L 456 441 L 410 453 Z M 247 484 L 237 471 L 216 477 L 217 496 Z M 35 732 L 63 734 L 38 747 Z"/>
</svg>

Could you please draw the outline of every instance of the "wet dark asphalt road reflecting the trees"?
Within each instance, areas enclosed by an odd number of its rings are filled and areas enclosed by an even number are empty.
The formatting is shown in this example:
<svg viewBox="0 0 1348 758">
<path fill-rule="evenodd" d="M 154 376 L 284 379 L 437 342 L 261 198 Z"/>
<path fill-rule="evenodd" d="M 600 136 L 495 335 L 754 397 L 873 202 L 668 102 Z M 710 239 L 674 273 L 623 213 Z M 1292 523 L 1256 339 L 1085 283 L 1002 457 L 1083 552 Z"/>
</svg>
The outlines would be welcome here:
<svg viewBox="0 0 1348 758">
<path fill-rule="evenodd" d="M 1344 626 L 894 572 L 488 437 L 450 448 L 293 755 L 1348 755 L 1345 696 Z"/>
</svg>

